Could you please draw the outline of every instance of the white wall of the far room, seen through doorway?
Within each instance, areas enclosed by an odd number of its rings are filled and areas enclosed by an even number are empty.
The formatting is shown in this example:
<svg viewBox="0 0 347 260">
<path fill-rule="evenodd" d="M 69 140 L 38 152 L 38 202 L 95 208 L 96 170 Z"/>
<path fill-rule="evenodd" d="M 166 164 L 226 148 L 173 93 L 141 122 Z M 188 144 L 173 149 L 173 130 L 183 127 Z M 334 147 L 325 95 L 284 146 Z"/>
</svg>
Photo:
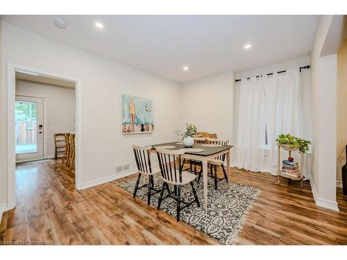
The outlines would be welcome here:
<svg viewBox="0 0 347 260">
<path fill-rule="evenodd" d="M 76 132 L 76 97 L 75 89 L 60 87 L 26 80 L 16 80 L 16 93 L 46 98 L 46 157 L 54 155 L 54 134 L 58 132 Z"/>
</svg>

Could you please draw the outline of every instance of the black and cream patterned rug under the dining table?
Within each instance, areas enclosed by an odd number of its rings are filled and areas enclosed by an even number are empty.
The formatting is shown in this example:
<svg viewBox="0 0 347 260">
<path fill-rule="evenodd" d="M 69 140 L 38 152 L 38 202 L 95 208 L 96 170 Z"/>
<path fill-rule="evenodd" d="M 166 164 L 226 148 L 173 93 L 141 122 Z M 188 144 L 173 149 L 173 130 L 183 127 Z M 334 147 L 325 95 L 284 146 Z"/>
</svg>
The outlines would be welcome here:
<svg viewBox="0 0 347 260">
<path fill-rule="evenodd" d="M 126 182 L 117 184 L 129 193 L 133 193 L 137 177 Z M 148 177 L 142 175 L 139 186 L 148 182 Z M 161 189 L 162 180 L 160 175 L 154 177 L 155 189 Z M 231 182 L 230 189 L 227 188 L 225 180 L 218 182 L 218 190 L 214 189 L 214 181 L 208 178 L 208 211 L 203 210 L 203 180 L 199 183 L 194 182 L 196 193 L 200 201 L 201 207 L 198 208 L 196 203 L 181 210 L 180 221 L 184 221 L 195 229 L 212 236 L 219 242 L 226 245 L 234 245 L 237 243 L 237 234 L 242 231 L 242 227 L 251 210 L 253 202 L 260 194 L 260 190 Z M 171 191 L 173 187 L 170 186 Z M 146 187 L 137 191 L 137 198 L 147 200 Z M 164 196 L 167 195 L 165 191 Z M 151 204 L 158 206 L 160 193 L 151 197 Z M 181 198 L 185 201 L 194 200 L 192 188 L 189 184 L 181 189 Z M 167 198 L 162 201 L 160 210 L 166 211 L 176 218 L 176 200 Z"/>
</svg>

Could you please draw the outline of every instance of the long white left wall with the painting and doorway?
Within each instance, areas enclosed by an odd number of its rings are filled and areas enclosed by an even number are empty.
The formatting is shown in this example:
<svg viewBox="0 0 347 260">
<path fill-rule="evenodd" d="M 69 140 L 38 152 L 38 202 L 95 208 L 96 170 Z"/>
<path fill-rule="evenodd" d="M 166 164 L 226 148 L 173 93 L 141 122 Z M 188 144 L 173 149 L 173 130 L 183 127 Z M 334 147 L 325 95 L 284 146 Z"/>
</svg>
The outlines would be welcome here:
<svg viewBox="0 0 347 260">
<path fill-rule="evenodd" d="M 130 162 L 133 144 L 177 140 L 180 85 L 87 53 L 4 21 L 1 23 L 0 204 L 7 200 L 7 62 L 81 80 L 83 184 L 110 177 Z M 155 132 L 121 134 L 121 94 L 153 99 Z"/>
</svg>

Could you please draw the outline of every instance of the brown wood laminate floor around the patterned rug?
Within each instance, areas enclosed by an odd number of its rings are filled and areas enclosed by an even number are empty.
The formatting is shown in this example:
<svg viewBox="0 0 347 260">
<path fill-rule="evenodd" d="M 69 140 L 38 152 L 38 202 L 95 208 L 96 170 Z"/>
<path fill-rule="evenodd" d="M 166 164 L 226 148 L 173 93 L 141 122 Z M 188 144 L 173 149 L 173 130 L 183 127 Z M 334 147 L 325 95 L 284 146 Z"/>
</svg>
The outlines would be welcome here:
<svg viewBox="0 0 347 260">
<path fill-rule="evenodd" d="M 314 204 L 310 182 L 303 189 L 268 173 L 232 168 L 232 182 L 261 190 L 239 244 L 347 244 L 347 196 L 337 189 L 340 212 Z M 1 243 L 216 245 L 196 231 L 115 184 L 76 191 L 74 173 L 52 160 L 17 166 L 17 207 L 3 214 Z M 12 241 L 12 242 L 11 242 Z"/>
</svg>

